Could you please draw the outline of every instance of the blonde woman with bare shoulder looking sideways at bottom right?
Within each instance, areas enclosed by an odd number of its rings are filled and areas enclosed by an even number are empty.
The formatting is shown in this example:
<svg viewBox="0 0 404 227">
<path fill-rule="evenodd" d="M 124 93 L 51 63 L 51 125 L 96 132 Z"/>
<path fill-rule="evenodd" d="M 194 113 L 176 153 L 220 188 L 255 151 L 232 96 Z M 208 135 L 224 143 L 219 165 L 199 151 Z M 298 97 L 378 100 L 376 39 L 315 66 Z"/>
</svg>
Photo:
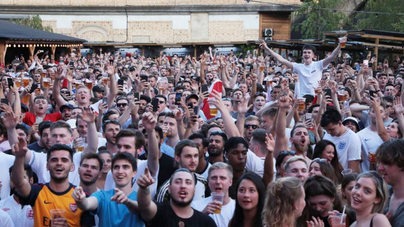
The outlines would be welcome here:
<svg viewBox="0 0 404 227">
<path fill-rule="evenodd" d="M 356 211 L 356 221 L 351 226 L 391 226 L 383 214 L 387 200 L 386 183 L 377 172 L 360 174 L 351 192 L 351 207 Z"/>
</svg>

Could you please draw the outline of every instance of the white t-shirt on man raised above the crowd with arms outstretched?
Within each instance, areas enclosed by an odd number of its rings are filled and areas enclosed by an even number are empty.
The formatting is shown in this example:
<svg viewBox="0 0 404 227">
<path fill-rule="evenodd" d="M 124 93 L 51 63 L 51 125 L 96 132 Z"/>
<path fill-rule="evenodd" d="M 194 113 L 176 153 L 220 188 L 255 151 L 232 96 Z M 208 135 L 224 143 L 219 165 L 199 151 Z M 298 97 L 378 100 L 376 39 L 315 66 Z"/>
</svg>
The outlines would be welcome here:
<svg viewBox="0 0 404 227">
<path fill-rule="evenodd" d="M 313 61 L 311 64 L 306 66 L 304 63 L 296 63 L 293 64 L 293 71 L 299 75 L 299 85 L 300 85 L 300 94 L 311 94 L 315 95 L 314 88 L 319 86 L 318 81 L 321 80 L 321 76 L 323 75 L 323 60 Z"/>
</svg>

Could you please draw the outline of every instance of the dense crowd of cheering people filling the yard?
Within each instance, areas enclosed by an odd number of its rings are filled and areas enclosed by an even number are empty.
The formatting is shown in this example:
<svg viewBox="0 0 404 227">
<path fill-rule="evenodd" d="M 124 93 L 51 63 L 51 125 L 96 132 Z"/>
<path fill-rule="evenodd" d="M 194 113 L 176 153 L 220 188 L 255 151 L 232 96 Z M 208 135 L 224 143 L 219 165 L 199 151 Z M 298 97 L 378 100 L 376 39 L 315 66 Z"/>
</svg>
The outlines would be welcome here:
<svg viewBox="0 0 404 227">
<path fill-rule="evenodd" d="M 404 59 L 304 45 L 0 68 L 1 226 L 404 226 Z M 298 62 L 299 61 L 299 62 Z"/>
</svg>

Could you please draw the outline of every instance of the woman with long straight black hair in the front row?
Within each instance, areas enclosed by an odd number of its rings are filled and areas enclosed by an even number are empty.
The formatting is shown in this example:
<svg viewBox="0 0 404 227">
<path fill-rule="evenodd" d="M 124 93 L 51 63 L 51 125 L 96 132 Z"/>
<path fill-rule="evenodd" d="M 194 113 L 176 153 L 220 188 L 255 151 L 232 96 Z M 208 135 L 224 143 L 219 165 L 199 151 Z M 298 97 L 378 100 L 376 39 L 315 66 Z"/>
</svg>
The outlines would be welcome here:
<svg viewBox="0 0 404 227">
<path fill-rule="evenodd" d="M 241 176 L 236 185 L 236 208 L 229 227 L 262 227 L 261 214 L 265 202 L 262 178 L 249 172 Z"/>
</svg>

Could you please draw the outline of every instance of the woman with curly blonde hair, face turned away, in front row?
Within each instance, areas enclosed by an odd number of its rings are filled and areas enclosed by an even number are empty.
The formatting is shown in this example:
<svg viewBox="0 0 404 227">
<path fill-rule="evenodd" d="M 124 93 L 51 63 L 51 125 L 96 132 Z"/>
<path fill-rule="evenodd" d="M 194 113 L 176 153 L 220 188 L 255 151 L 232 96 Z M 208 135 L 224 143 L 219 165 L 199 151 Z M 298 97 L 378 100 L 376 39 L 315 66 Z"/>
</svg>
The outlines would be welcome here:
<svg viewBox="0 0 404 227">
<path fill-rule="evenodd" d="M 301 216 L 306 202 L 300 180 L 285 177 L 272 181 L 268 186 L 263 221 L 267 227 L 294 227 Z"/>
</svg>

